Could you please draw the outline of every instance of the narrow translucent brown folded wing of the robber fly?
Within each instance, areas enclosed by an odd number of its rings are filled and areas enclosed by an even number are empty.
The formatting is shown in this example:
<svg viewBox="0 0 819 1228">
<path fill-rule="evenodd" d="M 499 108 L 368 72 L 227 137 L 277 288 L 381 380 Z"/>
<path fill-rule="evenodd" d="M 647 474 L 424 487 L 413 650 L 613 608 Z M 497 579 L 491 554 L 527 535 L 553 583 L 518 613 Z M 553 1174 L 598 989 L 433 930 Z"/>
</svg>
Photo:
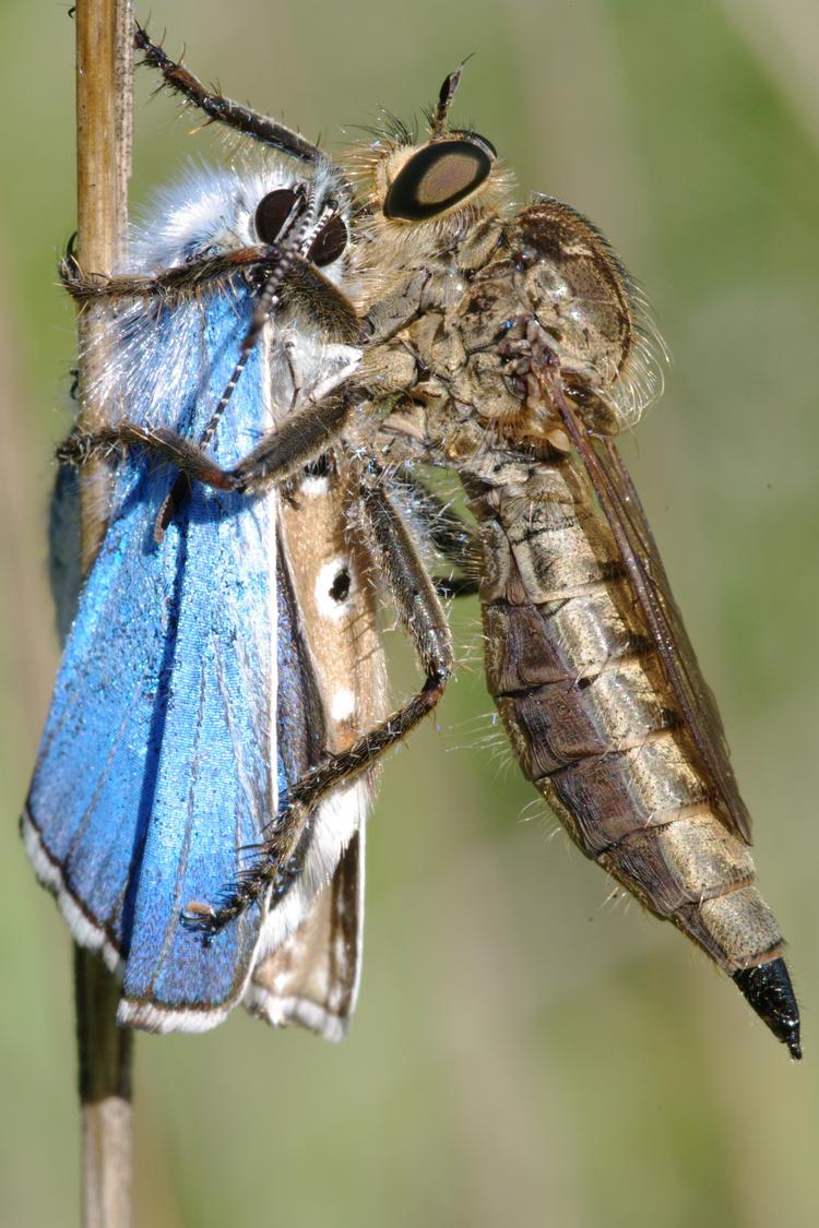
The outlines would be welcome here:
<svg viewBox="0 0 819 1228">
<path fill-rule="evenodd" d="M 706 780 L 711 782 L 718 814 L 728 830 L 750 844 L 750 815 L 739 796 L 713 695 L 700 672 L 646 513 L 616 443 L 610 436 L 596 435 L 583 425 L 571 395 L 559 381 L 549 392 L 614 534 L 663 672 L 679 702 Z"/>
</svg>

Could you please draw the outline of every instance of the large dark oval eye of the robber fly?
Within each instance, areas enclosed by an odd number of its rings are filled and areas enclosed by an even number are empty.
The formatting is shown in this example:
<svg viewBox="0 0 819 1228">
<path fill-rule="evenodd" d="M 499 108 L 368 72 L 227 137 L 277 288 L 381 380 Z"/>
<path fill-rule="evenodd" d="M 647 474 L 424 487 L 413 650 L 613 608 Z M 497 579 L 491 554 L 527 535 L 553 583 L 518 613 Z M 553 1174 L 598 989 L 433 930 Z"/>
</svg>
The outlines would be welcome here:
<svg viewBox="0 0 819 1228">
<path fill-rule="evenodd" d="M 486 179 L 494 152 L 480 136 L 425 145 L 393 179 L 384 216 L 420 222 L 457 205 Z"/>
</svg>

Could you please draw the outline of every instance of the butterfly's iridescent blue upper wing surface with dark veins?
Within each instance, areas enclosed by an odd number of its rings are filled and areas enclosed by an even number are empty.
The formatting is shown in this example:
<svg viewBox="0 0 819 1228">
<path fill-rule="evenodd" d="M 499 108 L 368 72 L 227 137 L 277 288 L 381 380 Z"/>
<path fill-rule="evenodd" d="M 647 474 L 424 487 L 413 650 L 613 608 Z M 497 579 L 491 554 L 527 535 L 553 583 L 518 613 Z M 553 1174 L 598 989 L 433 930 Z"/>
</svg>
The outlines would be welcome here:
<svg viewBox="0 0 819 1228">
<path fill-rule="evenodd" d="M 196 438 L 227 383 L 246 290 L 122 324 L 124 413 Z M 271 425 L 257 348 L 220 424 L 232 464 Z M 219 898 L 276 810 L 275 496 L 194 485 L 165 542 L 176 474 L 119 468 L 109 528 L 66 642 L 25 819 L 75 937 L 124 962 L 120 1022 L 212 1027 L 241 996 L 262 922 L 249 909 L 209 946 L 183 930 Z"/>
</svg>

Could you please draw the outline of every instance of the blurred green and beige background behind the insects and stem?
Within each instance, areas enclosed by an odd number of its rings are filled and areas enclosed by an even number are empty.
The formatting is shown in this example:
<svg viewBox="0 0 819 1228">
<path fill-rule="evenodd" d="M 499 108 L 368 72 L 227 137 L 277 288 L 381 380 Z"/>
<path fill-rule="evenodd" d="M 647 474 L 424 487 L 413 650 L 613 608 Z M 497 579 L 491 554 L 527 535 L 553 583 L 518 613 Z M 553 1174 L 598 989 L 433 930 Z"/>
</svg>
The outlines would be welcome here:
<svg viewBox="0 0 819 1228">
<path fill-rule="evenodd" d="M 44 519 L 72 361 L 55 287 L 75 225 L 66 10 L 0 6 L 6 1228 L 76 1224 L 79 1203 L 70 943 L 16 834 L 56 662 Z M 522 194 L 593 217 L 648 289 L 675 362 L 625 451 L 756 817 L 807 1060 L 791 1065 L 729 981 L 613 904 L 527 809 L 467 603 L 438 727 L 392 758 L 371 822 L 350 1038 L 274 1033 L 241 1011 L 204 1036 L 138 1038 L 135 1223 L 819 1223 L 819 7 L 152 0 L 151 29 L 330 150 L 381 104 L 419 112 L 478 53 L 456 118 L 496 144 Z M 135 203 L 187 157 L 219 155 L 150 86 L 140 74 Z M 411 685 L 403 653 L 397 677 Z"/>
</svg>

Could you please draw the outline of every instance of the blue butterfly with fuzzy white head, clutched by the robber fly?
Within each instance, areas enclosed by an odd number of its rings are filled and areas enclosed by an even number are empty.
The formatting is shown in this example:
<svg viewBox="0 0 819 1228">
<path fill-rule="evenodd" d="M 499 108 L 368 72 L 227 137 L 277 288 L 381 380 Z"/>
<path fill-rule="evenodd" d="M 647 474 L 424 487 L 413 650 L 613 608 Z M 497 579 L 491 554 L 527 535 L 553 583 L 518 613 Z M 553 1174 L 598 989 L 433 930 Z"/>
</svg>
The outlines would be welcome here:
<svg viewBox="0 0 819 1228">
<path fill-rule="evenodd" d="M 319 280 L 332 290 L 345 269 L 340 189 L 327 165 L 308 187 L 314 216 L 333 194 L 336 233 L 325 227 L 307 253 L 324 265 L 329 281 Z M 242 252 L 284 227 L 306 190 L 278 156 L 260 169 L 189 177 L 135 242 L 134 268 L 184 278 L 187 268 Z M 117 355 L 103 376 L 108 404 L 146 430 L 200 440 L 232 388 L 258 300 L 258 286 L 241 273 L 204 281 L 195 295 L 126 298 L 107 338 Z M 359 356 L 318 327 L 275 314 L 249 348 L 209 456 L 235 465 L 290 409 L 339 383 Z M 330 458 L 323 473 L 301 480 L 293 506 L 338 502 L 333 481 Z M 278 907 L 262 895 L 208 941 L 180 925 L 192 900 L 219 899 L 241 878 L 278 799 L 325 753 L 328 716 L 280 496 L 198 481 L 178 494 L 173 465 L 140 449 L 119 460 L 108 528 L 80 594 L 39 749 L 26 847 L 75 939 L 122 968 L 120 1023 L 200 1030 L 244 997 L 270 1022 L 338 1035 L 357 982 L 366 786 L 323 803 L 311 857 Z M 160 542 L 158 521 L 167 522 Z M 325 553 L 344 554 L 344 542 L 341 528 L 341 544 Z M 308 569 L 323 566 L 320 549 L 312 549 Z M 332 570 L 333 558 L 324 562 Z M 339 569 L 347 582 L 333 626 L 343 640 L 345 616 L 360 614 L 363 598 L 355 560 L 345 555 Z M 373 659 L 377 670 L 378 650 Z M 301 948 L 312 948 L 312 964 Z"/>
</svg>

